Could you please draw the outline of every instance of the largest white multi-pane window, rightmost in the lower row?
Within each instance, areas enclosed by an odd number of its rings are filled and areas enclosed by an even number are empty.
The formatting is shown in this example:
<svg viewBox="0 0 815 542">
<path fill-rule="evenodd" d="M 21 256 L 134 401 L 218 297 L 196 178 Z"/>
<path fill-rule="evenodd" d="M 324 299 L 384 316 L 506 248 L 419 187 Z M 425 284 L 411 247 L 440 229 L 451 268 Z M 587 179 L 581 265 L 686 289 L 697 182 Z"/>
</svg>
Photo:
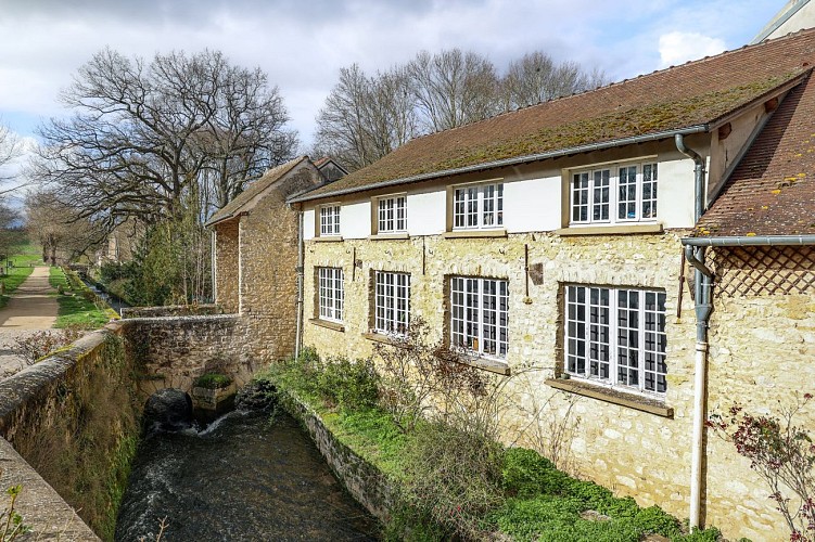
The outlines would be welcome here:
<svg viewBox="0 0 815 542">
<path fill-rule="evenodd" d="M 568 285 L 564 324 L 570 375 L 666 391 L 664 292 Z"/>
</svg>

